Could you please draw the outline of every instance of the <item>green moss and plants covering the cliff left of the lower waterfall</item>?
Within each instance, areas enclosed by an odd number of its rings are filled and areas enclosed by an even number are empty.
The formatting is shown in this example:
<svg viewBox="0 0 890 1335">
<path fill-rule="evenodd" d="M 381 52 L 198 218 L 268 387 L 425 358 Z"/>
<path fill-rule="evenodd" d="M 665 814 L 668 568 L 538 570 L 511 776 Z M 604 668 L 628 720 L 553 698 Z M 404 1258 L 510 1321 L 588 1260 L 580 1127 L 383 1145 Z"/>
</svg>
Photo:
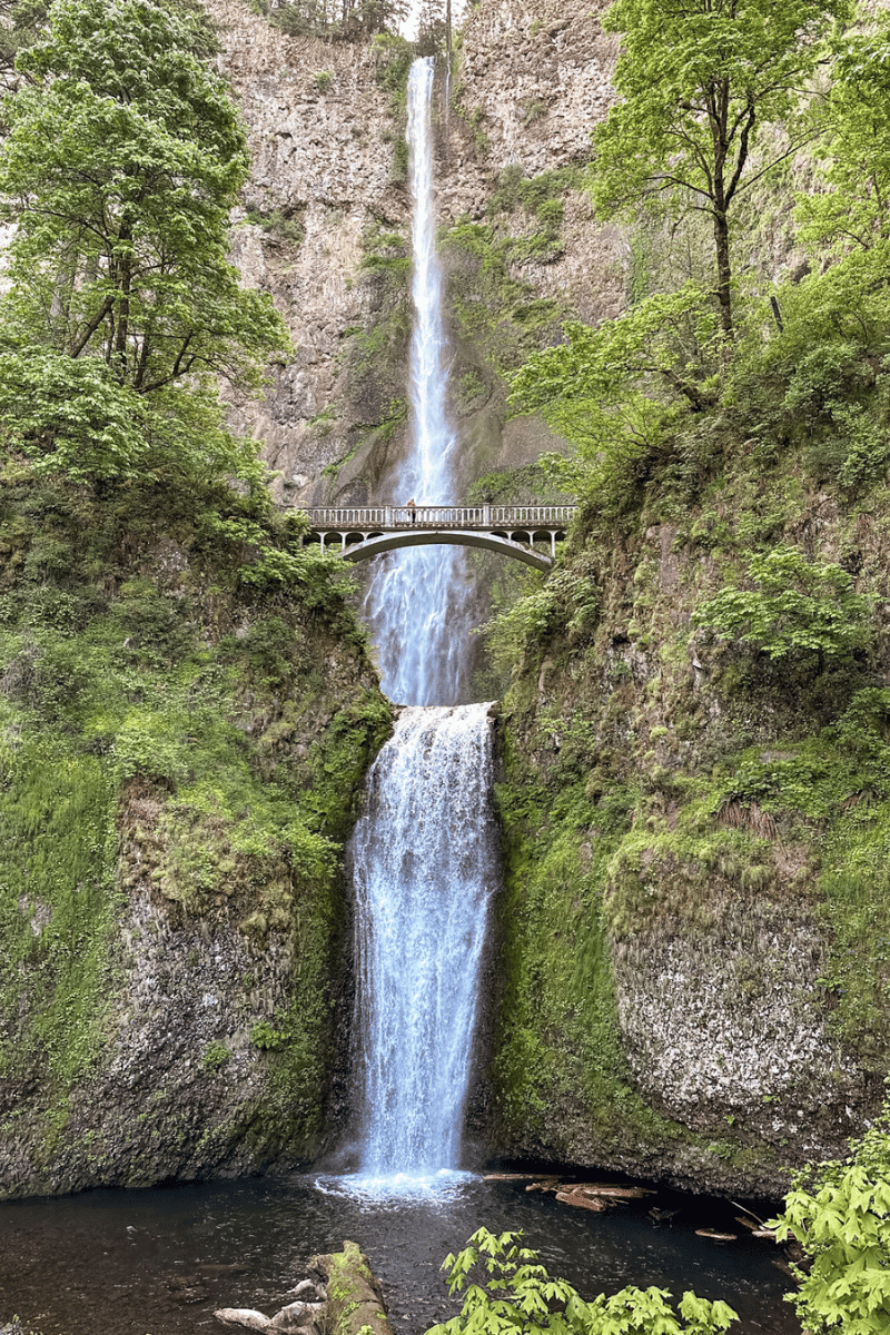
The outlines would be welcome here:
<svg viewBox="0 0 890 1335">
<path fill-rule="evenodd" d="M 260 1156 L 304 1155 L 322 1127 L 340 848 L 390 706 L 324 582 L 239 590 L 231 549 L 207 553 L 176 505 L 160 491 L 143 531 L 123 498 L 0 487 L 0 543 L 23 557 L 0 583 L 0 1071 L 13 1108 L 32 1091 L 47 1156 L 112 1051 L 137 882 L 173 929 L 226 920 L 290 949 L 287 1004 L 256 1039 L 271 1093 L 243 1120 Z M 201 1060 L 217 1069 L 220 1044 Z"/>
</svg>

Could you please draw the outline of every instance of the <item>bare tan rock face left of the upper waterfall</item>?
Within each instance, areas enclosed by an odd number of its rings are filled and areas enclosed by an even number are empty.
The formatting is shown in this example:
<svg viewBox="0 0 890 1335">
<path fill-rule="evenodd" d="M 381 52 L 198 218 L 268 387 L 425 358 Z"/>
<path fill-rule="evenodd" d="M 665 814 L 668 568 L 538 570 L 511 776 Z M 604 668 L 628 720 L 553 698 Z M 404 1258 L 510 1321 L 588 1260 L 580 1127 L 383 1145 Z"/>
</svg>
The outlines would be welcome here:
<svg viewBox="0 0 890 1335">
<path fill-rule="evenodd" d="M 371 319 L 363 236 L 403 228 L 407 218 L 383 139 L 384 128 L 392 139 L 388 95 L 375 80 L 384 57 L 364 44 L 287 37 L 240 0 L 207 9 L 254 160 L 234 258 L 248 284 L 274 294 L 296 347 L 275 370 L 264 407 L 238 406 L 234 421 L 266 441 L 287 499 L 320 498 L 323 470 L 350 450 L 348 331 Z"/>
</svg>

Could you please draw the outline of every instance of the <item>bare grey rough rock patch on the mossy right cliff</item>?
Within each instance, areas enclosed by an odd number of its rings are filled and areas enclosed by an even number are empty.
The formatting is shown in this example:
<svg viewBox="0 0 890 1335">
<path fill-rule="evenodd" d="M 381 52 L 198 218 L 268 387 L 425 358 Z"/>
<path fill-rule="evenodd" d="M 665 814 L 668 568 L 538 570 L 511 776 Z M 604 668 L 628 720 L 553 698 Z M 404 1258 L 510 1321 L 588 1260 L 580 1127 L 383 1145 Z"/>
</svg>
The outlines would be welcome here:
<svg viewBox="0 0 890 1335">
<path fill-rule="evenodd" d="M 769 898 L 715 917 L 694 940 L 667 922 L 614 951 L 638 1089 L 699 1135 L 722 1136 L 731 1117 L 777 1151 L 793 1145 L 795 1160 L 842 1149 L 871 1089 L 826 1029 L 825 933 Z"/>
</svg>

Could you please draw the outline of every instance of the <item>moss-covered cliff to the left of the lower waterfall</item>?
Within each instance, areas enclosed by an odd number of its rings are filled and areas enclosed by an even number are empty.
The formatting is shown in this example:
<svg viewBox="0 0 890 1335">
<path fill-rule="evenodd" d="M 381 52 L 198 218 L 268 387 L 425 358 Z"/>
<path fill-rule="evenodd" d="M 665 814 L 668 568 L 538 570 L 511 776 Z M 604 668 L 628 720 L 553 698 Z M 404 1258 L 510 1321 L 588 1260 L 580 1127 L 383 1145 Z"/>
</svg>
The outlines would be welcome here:
<svg viewBox="0 0 890 1335">
<path fill-rule="evenodd" d="M 258 578 L 212 499 L 3 475 L 3 1195 L 336 1125 L 340 849 L 390 708 L 334 577 Z"/>
</svg>

